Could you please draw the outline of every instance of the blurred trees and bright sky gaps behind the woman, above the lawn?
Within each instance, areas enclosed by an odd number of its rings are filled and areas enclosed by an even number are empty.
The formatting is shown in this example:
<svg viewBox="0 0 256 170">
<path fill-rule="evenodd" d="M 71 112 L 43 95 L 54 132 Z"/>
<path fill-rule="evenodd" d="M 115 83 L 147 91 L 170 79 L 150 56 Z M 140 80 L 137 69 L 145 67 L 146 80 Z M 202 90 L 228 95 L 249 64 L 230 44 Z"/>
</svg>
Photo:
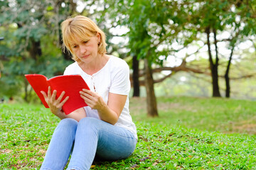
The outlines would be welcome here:
<svg viewBox="0 0 256 170">
<path fill-rule="evenodd" d="M 40 103 L 24 74 L 63 74 L 60 23 L 91 18 L 131 69 L 130 96 L 256 99 L 255 0 L 0 0 L 1 102 Z"/>
</svg>

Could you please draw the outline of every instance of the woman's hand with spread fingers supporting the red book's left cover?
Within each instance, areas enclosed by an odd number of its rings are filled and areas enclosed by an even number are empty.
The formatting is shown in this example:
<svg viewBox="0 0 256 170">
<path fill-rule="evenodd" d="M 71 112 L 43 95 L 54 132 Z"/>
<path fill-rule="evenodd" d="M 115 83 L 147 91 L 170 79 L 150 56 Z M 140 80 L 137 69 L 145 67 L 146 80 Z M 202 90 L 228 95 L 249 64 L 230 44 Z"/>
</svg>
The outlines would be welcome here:
<svg viewBox="0 0 256 170">
<path fill-rule="evenodd" d="M 66 101 L 68 101 L 68 96 L 63 100 L 63 96 L 65 94 L 65 91 L 63 91 L 60 96 L 56 99 L 57 91 L 53 91 L 53 94 L 51 94 L 50 86 L 48 87 L 48 94 L 46 95 L 46 92 L 41 91 L 41 94 L 43 94 L 44 99 L 46 100 L 46 103 L 48 104 L 51 113 L 58 116 L 60 119 L 65 118 L 65 114 L 61 112 L 62 106 Z M 61 102 L 60 102 L 61 101 Z"/>
</svg>

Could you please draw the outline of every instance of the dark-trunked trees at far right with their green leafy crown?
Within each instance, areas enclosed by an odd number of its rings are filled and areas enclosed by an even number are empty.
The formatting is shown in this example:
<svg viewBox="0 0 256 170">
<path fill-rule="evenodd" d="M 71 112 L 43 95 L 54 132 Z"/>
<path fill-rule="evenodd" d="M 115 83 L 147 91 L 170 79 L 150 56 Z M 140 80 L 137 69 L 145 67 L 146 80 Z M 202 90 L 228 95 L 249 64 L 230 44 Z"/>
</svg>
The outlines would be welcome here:
<svg viewBox="0 0 256 170">
<path fill-rule="evenodd" d="M 255 16 L 253 1 L 190 1 L 191 8 L 191 30 L 206 34 L 208 46 L 208 60 L 213 84 L 213 96 L 220 97 L 219 60 L 221 53 L 219 42 L 229 42 L 227 48 L 230 49 L 230 57 L 227 57 L 228 64 L 225 72 L 226 97 L 230 96 L 229 71 L 235 45 L 246 40 L 245 36 L 252 33 L 255 26 Z M 254 7 L 253 7 L 254 6 Z M 249 23 L 247 21 L 250 21 Z M 250 27 L 248 27 L 250 25 Z M 255 31 L 254 31 L 255 32 Z M 228 33 L 229 38 L 222 38 L 223 33 Z M 196 35 L 198 36 L 198 35 Z M 195 39 L 196 39 L 195 36 Z M 212 40 L 211 40 L 212 39 Z M 215 56 L 214 56 L 215 55 Z M 225 57 L 222 57 L 225 58 Z"/>
</svg>

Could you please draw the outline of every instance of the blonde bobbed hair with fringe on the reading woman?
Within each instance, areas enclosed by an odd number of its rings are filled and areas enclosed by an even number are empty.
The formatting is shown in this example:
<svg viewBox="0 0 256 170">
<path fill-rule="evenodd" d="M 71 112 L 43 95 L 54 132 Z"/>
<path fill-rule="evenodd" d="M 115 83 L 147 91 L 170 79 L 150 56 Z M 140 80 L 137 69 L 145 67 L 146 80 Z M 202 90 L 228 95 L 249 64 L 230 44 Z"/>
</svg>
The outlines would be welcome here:
<svg viewBox="0 0 256 170">
<path fill-rule="evenodd" d="M 75 56 L 71 48 L 71 45 L 75 42 L 75 38 L 85 40 L 96 36 L 97 33 L 99 33 L 100 44 L 98 53 L 104 55 L 107 52 L 105 33 L 100 30 L 100 28 L 90 18 L 85 16 L 67 18 L 63 23 L 61 23 L 61 30 L 63 35 L 63 50 L 65 51 L 65 48 L 67 48 L 73 56 L 72 59 L 77 62 L 80 62 L 80 60 Z"/>
</svg>

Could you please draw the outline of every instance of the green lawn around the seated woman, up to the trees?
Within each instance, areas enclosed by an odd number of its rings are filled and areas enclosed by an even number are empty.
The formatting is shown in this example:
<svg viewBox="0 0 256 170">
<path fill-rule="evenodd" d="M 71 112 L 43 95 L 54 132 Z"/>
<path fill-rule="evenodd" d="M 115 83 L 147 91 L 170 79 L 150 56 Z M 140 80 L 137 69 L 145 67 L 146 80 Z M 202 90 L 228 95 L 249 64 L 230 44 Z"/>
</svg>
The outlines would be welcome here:
<svg viewBox="0 0 256 170">
<path fill-rule="evenodd" d="M 131 157 L 92 169 L 256 169 L 256 105 L 223 98 L 158 98 L 159 118 L 131 99 L 139 142 Z M 0 169 L 39 169 L 58 124 L 43 106 L 0 104 Z"/>
</svg>

